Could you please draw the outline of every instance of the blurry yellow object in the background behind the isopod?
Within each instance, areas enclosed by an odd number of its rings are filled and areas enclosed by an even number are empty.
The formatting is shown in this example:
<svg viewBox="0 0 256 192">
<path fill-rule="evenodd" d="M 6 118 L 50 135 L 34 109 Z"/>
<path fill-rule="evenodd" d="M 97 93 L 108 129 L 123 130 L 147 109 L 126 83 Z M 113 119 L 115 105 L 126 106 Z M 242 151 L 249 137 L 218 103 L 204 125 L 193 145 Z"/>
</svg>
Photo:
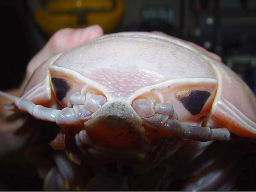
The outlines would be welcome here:
<svg viewBox="0 0 256 192">
<path fill-rule="evenodd" d="M 35 22 L 52 35 L 61 28 L 81 28 L 94 24 L 111 33 L 124 12 L 123 0 L 51 0 L 35 13 Z"/>
</svg>

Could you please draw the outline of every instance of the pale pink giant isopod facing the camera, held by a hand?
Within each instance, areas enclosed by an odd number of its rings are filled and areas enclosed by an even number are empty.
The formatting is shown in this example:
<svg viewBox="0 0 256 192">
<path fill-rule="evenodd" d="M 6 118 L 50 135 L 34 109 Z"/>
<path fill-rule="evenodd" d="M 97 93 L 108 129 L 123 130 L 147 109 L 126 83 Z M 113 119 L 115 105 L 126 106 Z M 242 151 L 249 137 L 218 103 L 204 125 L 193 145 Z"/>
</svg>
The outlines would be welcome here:
<svg viewBox="0 0 256 192">
<path fill-rule="evenodd" d="M 256 138 L 256 98 L 216 56 L 146 32 L 110 34 L 58 54 L 36 69 L 17 109 L 60 127 L 79 127 L 89 153 L 147 159 L 180 141 Z M 57 139 L 61 140 L 59 136 Z"/>
</svg>

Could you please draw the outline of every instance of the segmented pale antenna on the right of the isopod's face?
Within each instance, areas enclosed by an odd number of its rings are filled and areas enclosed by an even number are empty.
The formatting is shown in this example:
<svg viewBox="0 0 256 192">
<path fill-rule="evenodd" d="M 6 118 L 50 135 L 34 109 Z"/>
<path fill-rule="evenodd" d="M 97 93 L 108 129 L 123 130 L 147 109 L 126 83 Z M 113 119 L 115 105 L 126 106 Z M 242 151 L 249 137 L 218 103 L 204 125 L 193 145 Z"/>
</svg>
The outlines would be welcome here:
<svg viewBox="0 0 256 192">
<path fill-rule="evenodd" d="M 195 127 L 180 124 L 178 116 L 170 102 L 156 103 L 154 99 L 137 99 L 132 104 L 134 110 L 143 119 L 143 124 L 152 130 L 158 130 L 160 138 L 187 139 L 194 141 L 229 141 L 230 132 L 226 128 Z"/>
</svg>

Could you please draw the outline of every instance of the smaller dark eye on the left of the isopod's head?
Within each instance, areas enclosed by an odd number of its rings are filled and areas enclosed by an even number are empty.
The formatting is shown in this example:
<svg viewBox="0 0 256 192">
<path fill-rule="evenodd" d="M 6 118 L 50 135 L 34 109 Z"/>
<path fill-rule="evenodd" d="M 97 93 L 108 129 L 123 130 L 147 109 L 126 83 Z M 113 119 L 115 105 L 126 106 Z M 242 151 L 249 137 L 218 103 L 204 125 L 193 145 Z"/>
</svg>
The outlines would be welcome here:
<svg viewBox="0 0 256 192">
<path fill-rule="evenodd" d="M 61 101 L 72 88 L 72 83 L 67 79 L 52 78 L 52 86 L 57 99 Z"/>
</svg>

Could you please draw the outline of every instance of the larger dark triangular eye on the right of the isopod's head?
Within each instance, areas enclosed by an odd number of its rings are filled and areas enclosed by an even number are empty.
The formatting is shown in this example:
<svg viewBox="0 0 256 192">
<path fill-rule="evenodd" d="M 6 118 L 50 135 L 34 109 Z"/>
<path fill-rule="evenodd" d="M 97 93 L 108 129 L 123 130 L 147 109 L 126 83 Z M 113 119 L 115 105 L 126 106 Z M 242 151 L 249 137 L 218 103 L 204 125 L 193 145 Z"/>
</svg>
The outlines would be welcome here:
<svg viewBox="0 0 256 192">
<path fill-rule="evenodd" d="M 175 97 L 192 115 L 197 115 L 201 112 L 210 95 L 208 91 L 197 89 L 180 90 L 175 93 Z"/>
</svg>

